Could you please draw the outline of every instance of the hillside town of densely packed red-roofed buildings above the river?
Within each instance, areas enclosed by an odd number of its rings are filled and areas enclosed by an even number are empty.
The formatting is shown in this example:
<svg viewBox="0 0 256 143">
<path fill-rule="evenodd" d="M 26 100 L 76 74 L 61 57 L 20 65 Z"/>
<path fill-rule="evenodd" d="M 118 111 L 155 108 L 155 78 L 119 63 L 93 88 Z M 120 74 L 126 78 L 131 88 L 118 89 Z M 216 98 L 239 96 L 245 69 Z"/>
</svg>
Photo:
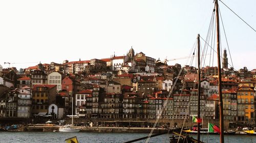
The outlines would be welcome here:
<svg viewBox="0 0 256 143">
<path fill-rule="evenodd" d="M 217 69 L 201 69 L 201 117 L 219 119 L 222 92 L 224 120 L 255 124 L 256 69 L 229 68 L 224 50 L 222 91 Z M 0 65 L 0 118 L 65 119 L 72 115 L 73 99 L 74 115 L 84 119 L 192 119 L 198 110 L 197 76 L 196 67 L 167 65 L 167 60 L 135 54 L 133 48 L 105 59 L 38 63 L 25 69 Z"/>
</svg>

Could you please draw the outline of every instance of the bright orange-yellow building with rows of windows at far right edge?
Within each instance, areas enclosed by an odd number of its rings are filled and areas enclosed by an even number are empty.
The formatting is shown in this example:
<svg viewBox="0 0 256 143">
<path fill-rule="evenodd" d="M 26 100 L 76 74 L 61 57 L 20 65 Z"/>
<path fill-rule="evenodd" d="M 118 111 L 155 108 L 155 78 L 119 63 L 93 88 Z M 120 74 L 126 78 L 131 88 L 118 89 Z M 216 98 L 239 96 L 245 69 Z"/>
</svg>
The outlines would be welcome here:
<svg viewBox="0 0 256 143">
<path fill-rule="evenodd" d="M 248 85 L 242 85 L 238 88 L 238 121 L 252 121 L 254 119 L 253 88 L 254 87 L 249 87 Z"/>
</svg>

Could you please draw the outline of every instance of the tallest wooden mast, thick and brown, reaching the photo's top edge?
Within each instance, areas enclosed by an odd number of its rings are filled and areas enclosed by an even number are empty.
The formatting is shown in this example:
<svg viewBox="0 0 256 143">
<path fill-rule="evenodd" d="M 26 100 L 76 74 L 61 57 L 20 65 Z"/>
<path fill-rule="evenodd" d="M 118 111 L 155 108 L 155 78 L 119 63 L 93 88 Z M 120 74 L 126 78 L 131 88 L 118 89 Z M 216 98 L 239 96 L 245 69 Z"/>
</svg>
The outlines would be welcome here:
<svg viewBox="0 0 256 143">
<path fill-rule="evenodd" d="M 218 57 L 218 77 L 219 77 L 219 109 L 220 109 L 220 142 L 224 143 L 224 123 L 223 123 L 223 101 L 221 87 L 221 58 L 220 58 L 220 21 L 219 21 L 219 5 L 218 0 L 215 1 L 216 9 L 216 35 L 217 35 L 217 57 Z"/>
</svg>

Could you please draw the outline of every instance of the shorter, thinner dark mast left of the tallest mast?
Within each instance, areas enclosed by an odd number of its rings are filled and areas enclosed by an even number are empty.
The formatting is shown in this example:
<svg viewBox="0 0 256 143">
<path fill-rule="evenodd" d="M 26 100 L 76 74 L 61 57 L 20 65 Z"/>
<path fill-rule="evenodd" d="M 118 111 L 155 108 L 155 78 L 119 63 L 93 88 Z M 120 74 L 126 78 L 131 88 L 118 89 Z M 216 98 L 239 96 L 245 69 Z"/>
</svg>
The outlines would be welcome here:
<svg viewBox="0 0 256 143">
<path fill-rule="evenodd" d="M 200 77 L 201 77 L 201 70 L 200 70 L 200 35 L 197 35 L 197 57 L 198 57 L 198 102 L 197 102 L 197 118 L 200 119 L 200 93 L 201 93 L 201 86 L 200 86 Z M 197 124 L 197 140 L 200 142 L 200 122 Z"/>
</svg>

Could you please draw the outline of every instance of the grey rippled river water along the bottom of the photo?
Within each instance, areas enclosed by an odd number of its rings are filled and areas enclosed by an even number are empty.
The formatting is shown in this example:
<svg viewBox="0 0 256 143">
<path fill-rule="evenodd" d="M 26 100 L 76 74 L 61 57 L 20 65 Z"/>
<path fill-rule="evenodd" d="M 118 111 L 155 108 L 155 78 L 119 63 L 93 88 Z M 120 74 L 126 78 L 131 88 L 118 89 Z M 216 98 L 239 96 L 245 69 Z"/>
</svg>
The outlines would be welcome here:
<svg viewBox="0 0 256 143">
<path fill-rule="evenodd" d="M 76 136 L 79 143 L 81 142 L 125 142 L 132 139 L 147 136 L 147 133 L 94 133 L 94 132 L 0 132 L 0 142 L 65 142 L 65 139 Z M 168 142 L 171 134 L 164 134 L 152 137 L 149 142 Z M 194 136 L 196 138 L 196 136 Z M 219 135 L 201 135 L 205 142 L 219 142 Z M 145 142 L 145 140 L 137 141 Z M 225 142 L 230 143 L 247 143 L 256 142 L 256 136 L 233 135 L 225 136 Z"/>
</svg>

